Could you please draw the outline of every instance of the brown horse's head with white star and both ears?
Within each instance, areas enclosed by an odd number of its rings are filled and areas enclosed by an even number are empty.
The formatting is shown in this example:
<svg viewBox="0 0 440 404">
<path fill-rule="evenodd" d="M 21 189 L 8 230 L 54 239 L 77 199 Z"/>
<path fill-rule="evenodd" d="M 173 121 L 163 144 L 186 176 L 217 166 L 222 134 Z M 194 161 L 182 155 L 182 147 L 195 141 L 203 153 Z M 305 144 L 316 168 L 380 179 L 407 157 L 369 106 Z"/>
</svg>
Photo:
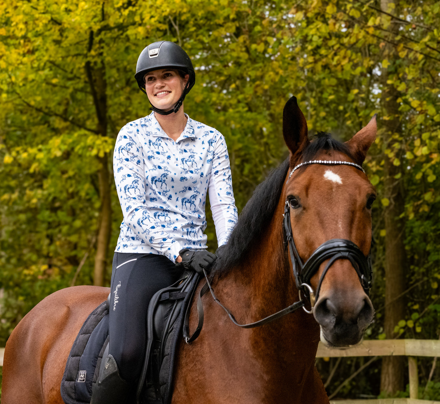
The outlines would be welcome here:
<svg viewBox="0 0 440 404">
<path fill-rule="evenodd" d="M 290 214 L 292 239 L 304 268 L 319 247 L 334 239 L 354 244 L 351 248 L 361 261 L 367 262 L 371 248 L 371 205 L 376 191 L 360 166 L 376 132 L 374 116 L 348 142 L 337 142 L 325 133 L 310 142 L 297 99 L 292 97 L 286 103 L 283 136 L 290 150 L 289 173 L 304 163 L 286 182 L 286 213 Z M 290 258 L 290 265 L 295 264 Z M 369 286 L 357 265 L 344 255 L 328 257 L 318 260 L 311 273 L 308 286 L 312 300 L 313 294 L 317 294 L 312 313 L 321 329 L 321 341 L 328 345 L 359 343 L 373 320 Z M 302 264 L 298 266 L 304 269 Z"/>
</svg>

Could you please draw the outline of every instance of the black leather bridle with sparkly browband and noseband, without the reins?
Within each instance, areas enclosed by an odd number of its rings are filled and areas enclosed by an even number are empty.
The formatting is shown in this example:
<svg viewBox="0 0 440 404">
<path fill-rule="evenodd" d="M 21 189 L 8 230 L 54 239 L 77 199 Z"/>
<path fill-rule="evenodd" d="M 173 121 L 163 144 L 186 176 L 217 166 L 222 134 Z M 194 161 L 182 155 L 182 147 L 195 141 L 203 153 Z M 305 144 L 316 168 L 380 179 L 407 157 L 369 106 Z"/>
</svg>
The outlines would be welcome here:
<svg viewBox="0 0 440 404">
<path fill-rule="evenodd" d="M 292 171 L 289 174 L 288 180 L 290 180 L 290 177 L 297 169 L 310 164 L 352 165 L 353 167 L 356 167 L 357 169 L 365 173 L 360 165 L 352 162 L 311 160 L 293 167 Z M 321 284 L 323 283 L 324 276 L 326 275 L 330 266 L 333 265 L 334 262 L 337 260 L 348 260 L 351 262 L 353 268 L 355 268 L 356 270 L 363 290 L 367 295 L 369 294 L 372 278 L 371 254 L 368 254 L 368 257 L 365 257 L 359 247 L 350 240 L 331 239 L 321 244 L 312 253 L 305 264 L 303 264 L 301 257 L 298 254 L 297 247 L 295 246 L 295 242 L 293 240 L 292 225 L 290 222 L 290 202 L 288 199 L 286 200 L 286 204 L 284 206 L 283 217 L 284 245 L 286 247 L 289 246 L 293 276 L 295 278 L 295 283 L 299 291 L 300 300 L 302 300 L 301 292 L 303 292 L 304 296 L 308 297 L 310 300 L 311 309 L 307 310 L 305 307 L 303 307 L 306 312 L 308 312 L 309 314 L 313 312 L 315 301 L 317 301 L 319 298 L 319 290 L 321 288 Z M 310 279 L 312 279 L 312 276 L 315 275 L 316 272 L 318 272 L 319 266 L 328 259 L 330 259 L 330 261 L 324 268 L 321 278 L 319 279 L 318 286 L 316 287 L 316 291 L 314 292 L 312 286 L 310 285 Z"/>
</svg>

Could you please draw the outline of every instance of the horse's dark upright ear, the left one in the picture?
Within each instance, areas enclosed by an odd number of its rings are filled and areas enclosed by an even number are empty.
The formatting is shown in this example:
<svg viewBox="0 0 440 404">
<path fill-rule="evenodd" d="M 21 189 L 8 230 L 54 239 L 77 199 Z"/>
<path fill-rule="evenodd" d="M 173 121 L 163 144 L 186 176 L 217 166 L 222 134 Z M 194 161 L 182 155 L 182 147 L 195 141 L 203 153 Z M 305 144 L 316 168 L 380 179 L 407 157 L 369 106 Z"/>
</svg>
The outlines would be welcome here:
<svg viewBox="0 0 440 404">
<path fill-rule="evenodd" d="M 298 107 L 297 97 L 291 97 L 282 111 L 282 136 L 290 150 L 290 162 L 294 162 L 308 145 L 307 122 Z"/>
</svg>

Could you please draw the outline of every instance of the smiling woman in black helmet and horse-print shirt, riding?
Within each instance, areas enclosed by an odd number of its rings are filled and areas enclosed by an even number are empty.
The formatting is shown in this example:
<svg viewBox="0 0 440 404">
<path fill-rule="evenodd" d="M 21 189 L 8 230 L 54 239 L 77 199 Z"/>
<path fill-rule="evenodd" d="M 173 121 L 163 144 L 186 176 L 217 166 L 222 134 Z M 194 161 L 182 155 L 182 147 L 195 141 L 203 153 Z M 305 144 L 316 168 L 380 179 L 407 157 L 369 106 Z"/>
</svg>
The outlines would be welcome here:
<svg viewBox="0 0 440 404">
<path fill-rule="evenodd" d="M 195 83 L 186 52 L 169 41 L 150 44 L 135 78 L 153 112 L 125 125 L 114 149 L 124 220 L 113 259 L 109 355 L 91 404 L 123 403 L 139 377 L 153 294 L 183 268 L 202 272 L 213 264 L 203 234 L 207 193 L 219 246 L 237 220 L 224 138 L 183 112 Z"/>
</svg>

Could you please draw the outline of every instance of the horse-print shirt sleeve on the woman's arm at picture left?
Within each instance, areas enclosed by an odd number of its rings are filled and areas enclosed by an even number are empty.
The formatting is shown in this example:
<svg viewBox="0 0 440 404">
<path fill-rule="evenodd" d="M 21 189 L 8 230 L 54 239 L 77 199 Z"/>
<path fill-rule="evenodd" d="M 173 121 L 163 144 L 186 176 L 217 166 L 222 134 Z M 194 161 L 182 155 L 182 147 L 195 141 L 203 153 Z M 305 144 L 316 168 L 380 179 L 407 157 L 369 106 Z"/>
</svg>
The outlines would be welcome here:
<svg viewBox="0 0 440 404">
<path fill-rule="evenodd" d="M 126 125 L 117 136 L 113 154 L 114 180 L 124 223 L 132 230 L 132 239 L 176 261 L 181 246 L 163 228 L 157 228 L 146 203 L 143 147 L 136 128 Z"/>
</svg>

